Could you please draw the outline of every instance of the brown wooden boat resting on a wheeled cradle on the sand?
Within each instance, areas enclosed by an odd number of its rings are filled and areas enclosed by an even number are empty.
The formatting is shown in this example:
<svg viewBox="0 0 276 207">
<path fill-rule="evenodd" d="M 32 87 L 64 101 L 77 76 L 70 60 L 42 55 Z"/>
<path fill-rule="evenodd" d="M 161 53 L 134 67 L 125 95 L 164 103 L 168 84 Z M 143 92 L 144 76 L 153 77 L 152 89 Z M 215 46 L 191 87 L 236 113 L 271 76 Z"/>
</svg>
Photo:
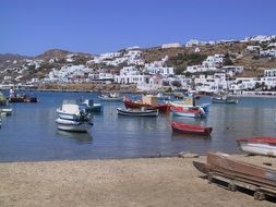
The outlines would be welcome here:
<svg viewBox="0 0 276 207">
<path fill-rule="evenodd" d="M 207 174 L 208 182 L 217 180 L 228 184 L 228 190 L 238 187 L 254 192 L 254 199 L 263 200 L 266 195 L 276 196 L 276 170 L 232 158 L 228 154 L 207 153 L 206 163 L 193 161 L 193 166 Z"/>
</svg>

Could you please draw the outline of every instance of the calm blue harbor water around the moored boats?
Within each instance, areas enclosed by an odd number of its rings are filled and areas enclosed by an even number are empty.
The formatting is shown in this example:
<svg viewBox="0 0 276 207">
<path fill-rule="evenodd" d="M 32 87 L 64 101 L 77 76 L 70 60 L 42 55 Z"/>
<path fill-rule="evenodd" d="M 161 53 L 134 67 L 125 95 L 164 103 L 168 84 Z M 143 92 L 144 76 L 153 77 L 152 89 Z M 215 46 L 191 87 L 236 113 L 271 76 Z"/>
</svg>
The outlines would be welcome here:
<svg viewBox="0 0 276 207">
<path fill-rule="evenodd" d="M 8 95 L 8 92 L 4 92 Z M 238 105 L 211 105 L 206 119 L 171 115 L 158 118 L 118 117 L 122 102 L 103 102 L 93 115 L 89 134 L 57 130 L 56 109 L 63 99 L 95 98 L 93 93 L 28 92 L 39 104 L 13 104 L 13 114 L 2 117 L 0 161 L 75 160 L 176 156 L 180 151 L 239 153 L 240 136 L 276 136 L 275 98 L 240 98 Z M 129 95 L 131 97 L 131 95 Z M 133 95 L 134 96 L 134 95 Z M 209 102 L 203 97 L 199 104 Z M 170 121 L 213 126 L 209 138 L 171 132 Z"/>
</svg>

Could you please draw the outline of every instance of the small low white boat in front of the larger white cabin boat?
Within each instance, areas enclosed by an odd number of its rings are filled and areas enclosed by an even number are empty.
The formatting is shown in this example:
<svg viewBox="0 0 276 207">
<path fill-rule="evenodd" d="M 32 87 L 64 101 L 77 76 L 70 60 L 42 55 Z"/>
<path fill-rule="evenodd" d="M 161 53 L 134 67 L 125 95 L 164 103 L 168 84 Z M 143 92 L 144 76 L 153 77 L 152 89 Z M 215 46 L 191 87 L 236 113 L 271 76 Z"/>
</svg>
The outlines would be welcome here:
<svg viewBox="0 0 276 207">
<path fill-rule="evenodd" d="M 56 120 L 59 130 L 70 131 L 70 132 L 87 132 L 92 127 L 92 122 L 81 122 L 81 121 L 73 121 L 73 120 L 64 120 L 58 118 Z"/>
</svg>

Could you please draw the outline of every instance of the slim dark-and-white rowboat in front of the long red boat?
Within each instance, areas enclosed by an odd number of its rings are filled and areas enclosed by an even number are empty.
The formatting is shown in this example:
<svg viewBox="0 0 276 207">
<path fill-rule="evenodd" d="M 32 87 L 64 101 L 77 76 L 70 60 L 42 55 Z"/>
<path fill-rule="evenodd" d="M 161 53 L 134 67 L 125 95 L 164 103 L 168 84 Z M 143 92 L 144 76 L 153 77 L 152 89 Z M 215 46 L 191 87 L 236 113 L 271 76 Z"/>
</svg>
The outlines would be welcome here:
<svg viewBox="0 0 276 207">
<path fill-rule="evenodd" d="M 140 110 L 135 110 L 135 109 L 117 108 L 117 113 L 119 115 L 129 115 L 129 117 L 157 117 L 158 109 L 142 108 Z"/>
</svg>

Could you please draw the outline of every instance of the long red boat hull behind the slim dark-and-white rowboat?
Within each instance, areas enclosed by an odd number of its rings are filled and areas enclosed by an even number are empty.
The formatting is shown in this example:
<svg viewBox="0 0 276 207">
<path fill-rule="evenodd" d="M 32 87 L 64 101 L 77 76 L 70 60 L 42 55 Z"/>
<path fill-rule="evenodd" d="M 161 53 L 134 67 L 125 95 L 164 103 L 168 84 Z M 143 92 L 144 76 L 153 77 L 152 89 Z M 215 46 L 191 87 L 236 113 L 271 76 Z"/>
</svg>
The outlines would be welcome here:
<svg viewBox="0 0 276 207">
<path fill-rule="evenodd" d="M 158 109 L 159 112 L 164 112 L 164 113 L 168 112 L 170 109 L 170 106 L 168 104 L 158 104 L 156 106 L 151 106 L 151 105 L 143 104 L 142 101 L 132 101 L 129 99 L 123 100 L 123 104 L 127 109 L 129 108 L 141 109 L 142 107 L 145 107 L 147 109 Z"/>
</svg>

